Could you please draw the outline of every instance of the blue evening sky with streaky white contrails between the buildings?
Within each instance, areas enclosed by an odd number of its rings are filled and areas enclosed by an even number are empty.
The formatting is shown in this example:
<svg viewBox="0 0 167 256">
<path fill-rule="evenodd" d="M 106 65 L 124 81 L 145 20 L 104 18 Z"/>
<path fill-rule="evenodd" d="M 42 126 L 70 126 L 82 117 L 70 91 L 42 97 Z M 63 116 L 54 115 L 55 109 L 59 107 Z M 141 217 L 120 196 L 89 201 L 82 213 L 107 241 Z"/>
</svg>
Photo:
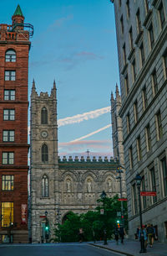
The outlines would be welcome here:
<svg viewBox="0 0 167 256">
<path fill-rule="evenodd" d="M 33 78 L 38 93 L 50 93 L 54 79 L 57 84 L 59 155 L 86 155 L 87 149 L 90 156 L 112 155 L 110 93 L 119 83 L 113 4 L 109 0 L 18 3 L 25 23 L 34 27 L 29 96 Z M 1 3 L 0 23 L 11 24 L 18 3 Z"/>
</svg>

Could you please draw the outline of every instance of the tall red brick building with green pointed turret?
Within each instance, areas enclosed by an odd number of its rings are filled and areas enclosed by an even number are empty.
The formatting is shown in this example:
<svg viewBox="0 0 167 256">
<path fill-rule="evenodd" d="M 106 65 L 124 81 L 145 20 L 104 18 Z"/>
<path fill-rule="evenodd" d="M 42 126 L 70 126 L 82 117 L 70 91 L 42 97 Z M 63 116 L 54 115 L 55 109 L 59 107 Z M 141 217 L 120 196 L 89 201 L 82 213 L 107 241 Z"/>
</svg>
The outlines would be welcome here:
<svg viewBox="0 0 167 256">
<path fill-rule="evenodd" d="M 0 24 L 0 243 L 28 242 L 28 53 L 33 26 L 16 8 Z"/>
</svg>

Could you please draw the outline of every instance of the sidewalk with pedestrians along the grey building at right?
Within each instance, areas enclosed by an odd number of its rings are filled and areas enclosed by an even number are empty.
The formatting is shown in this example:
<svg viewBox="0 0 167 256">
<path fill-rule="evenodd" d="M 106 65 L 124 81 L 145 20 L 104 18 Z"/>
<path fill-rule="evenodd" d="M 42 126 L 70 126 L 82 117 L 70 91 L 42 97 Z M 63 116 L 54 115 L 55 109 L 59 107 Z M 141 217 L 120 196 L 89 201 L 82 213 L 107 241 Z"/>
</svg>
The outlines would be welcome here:
<svg viewBox="0 0 167 256">
<path fill-rule="evenodd" d="M 159 243 L 154 242 L 153 248 L 147 247 L 147 253 L 139 253 L 140 243 L 139 241 L 134 240 L 124 240 L 124 244 L 121 244 L 119 241 L 119 245 L 115 243 L 115 241 L 108 242 L 108 245 L 104 245 L 103 242 L 99 243 L 91 243 L 91 245 L 108 248 L 117 253 L 124 253 L 124 255 L 129 256 L 167 256 L 167 243 Z"/>
</svg>

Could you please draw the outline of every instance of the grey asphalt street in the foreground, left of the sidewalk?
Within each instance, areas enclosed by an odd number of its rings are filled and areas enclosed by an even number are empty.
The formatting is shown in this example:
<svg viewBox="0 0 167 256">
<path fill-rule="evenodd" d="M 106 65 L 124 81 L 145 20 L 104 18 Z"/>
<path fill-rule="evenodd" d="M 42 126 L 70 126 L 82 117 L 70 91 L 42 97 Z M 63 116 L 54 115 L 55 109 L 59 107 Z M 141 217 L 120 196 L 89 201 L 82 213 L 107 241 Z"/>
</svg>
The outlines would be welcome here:
<svg viewBox="0 0 167 256">
<path fill-rule="evenodd" d="M 94 248 L 89 243 L 0 245 L 1 256 L 117 256 L 123 255 Z"/>
</svg>

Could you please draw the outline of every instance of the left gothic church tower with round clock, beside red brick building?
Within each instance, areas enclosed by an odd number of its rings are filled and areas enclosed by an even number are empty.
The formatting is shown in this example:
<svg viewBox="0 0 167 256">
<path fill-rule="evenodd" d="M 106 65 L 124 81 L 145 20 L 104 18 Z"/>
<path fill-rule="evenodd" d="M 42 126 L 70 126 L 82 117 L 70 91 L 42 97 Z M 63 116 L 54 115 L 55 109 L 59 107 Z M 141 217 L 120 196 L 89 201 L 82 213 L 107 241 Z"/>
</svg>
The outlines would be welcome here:
<svg viewBox="0 0 167 256">
<path fill-rule="evenodd" d="M 53 237 L 58 206 L 58 126 L 56 84 L 50 96 L 31 95 L 31 227 L 32 242 Z M 48 234 L 46 232 L 46 219 Z"/>
</svg>

